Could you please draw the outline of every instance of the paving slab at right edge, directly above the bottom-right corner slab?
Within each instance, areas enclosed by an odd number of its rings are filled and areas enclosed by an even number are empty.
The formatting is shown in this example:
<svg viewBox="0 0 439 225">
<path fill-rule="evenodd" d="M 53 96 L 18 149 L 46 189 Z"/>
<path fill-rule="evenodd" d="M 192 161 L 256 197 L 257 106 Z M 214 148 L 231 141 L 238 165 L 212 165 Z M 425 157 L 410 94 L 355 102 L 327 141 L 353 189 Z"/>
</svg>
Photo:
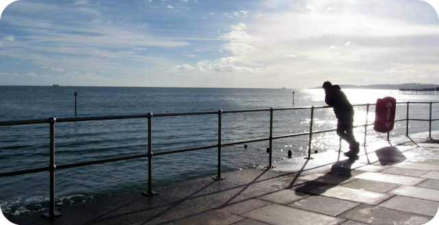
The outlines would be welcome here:
<svg viewBox="0 0 439 225">
<path fill-rule="evenodd" d="M 439 210 L 439 202 L 405 196 L 394 196 L 378 206 L 410 213 L 418 213 L 420 215 L 428 215 L 431 217 L 435 217 Z"/>
</svg>

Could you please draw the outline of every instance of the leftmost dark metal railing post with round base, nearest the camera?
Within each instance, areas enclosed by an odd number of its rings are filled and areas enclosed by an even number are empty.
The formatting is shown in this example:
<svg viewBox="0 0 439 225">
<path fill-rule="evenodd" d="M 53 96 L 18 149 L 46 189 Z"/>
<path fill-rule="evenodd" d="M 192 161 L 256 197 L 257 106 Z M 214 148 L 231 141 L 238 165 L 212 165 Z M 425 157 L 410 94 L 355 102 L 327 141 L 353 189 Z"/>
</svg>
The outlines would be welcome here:
<svg viewBox="0 0 439 225">
<path fill-rule="evenodd" d="M 49 173 L 50 173 L 50 200 L 49 200 L 49 213 L 43 213 L 43 215 L 47 218 L 54 218 L 61 215 L 60 212 L 55 211 L 55 123 L 56 118 L 51 117 L 49 119 L 50 123 L 50 164 L 49 164 Z"/>
</svg>

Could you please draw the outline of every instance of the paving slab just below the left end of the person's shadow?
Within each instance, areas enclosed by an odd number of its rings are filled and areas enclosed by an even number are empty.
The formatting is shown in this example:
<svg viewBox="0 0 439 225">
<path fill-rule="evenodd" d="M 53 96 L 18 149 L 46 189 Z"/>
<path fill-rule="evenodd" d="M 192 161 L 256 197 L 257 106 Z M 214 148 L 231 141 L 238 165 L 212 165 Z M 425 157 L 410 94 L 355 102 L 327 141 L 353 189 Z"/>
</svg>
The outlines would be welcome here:
<svg viewBox="0 0 439 225">
<path fill-rule="evenodd" d="M 345 200 L 339 200 L 336 198 L 327 198 L 324 196 L 311 196 L 304 198 L 288 206 L 292 206 L 298 209 L 305 209 L 307 211 L 313 211 L 316 213 L 322 213 L 326 215 L 337 216 L 353 207 L 359 205 L 356 202 L 348 202 Z"/>
</svg>

